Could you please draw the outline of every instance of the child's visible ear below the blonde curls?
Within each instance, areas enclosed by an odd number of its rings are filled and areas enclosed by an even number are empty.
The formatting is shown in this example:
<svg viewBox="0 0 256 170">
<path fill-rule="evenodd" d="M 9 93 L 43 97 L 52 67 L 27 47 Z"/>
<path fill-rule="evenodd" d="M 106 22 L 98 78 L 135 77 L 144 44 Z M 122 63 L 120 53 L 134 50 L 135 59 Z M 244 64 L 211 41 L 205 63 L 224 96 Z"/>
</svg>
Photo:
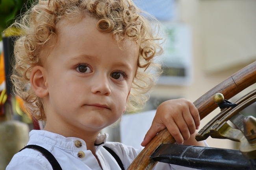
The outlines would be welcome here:
<svg viewBox="0 0 256 170">
<path fill-rule="evenodd" d="M 42 66 L 33 67 L 30 73 L 30 84 L 34 93 L 38 97 L 46 97 L 48 95 L 48 87 L 46 83 L 46 70 Z"/>
</svg>

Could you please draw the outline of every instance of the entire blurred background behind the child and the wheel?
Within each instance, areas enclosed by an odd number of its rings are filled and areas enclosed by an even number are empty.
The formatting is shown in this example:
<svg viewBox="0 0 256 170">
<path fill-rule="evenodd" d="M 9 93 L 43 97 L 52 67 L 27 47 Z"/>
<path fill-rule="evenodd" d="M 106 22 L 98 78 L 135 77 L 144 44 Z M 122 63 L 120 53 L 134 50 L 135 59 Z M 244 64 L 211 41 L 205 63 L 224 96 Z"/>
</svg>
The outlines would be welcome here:
<svg viewBox="0 0 256 170">
<path fill-rule="evenodd" d="M 25 2 L 0 0 L 0 32 L 10 26 L 12 18 L 24 12 Z M 143 113 L 125 113 L 121 124 L 108 127 L 102 133 L 109 133 L 109 141 L 138 148 L 161 102 L 178 98 L 194 102 L 256 60 L 256 1 L 135 0 L 135 4 L 158 18 L 167 33 L 165 53 L 161 59 L 164 74 L 152 91 L 146 108 L 141 110 Z M 28 132 L 40 128 L 39 125 L 33 126 L 31 117 L 22 110 L 21 101 L 8 92 L 11 65 L 4 67 L 4 56 L 11 58 L 12 55 L 13 42 L 9 35 L 2 34 L 0 38 L 3 39 L 0 42 L 0 170 L 5 169 L 13 154 L 26 145 Z M 8 48 L 4 48 L 3 42 Z M 1 69 L 5 69 L 5 73 Z M 229 101 L 234 102 L 255 88 L 254 84 Z M 219 112 L 217 108 L 204 118 L 200 128 Z M 256 104 L 245 109 L 243 114 L 255 117 Z M 237 149 L 239 145 L 228 139 L 211 137 L 206 142 L 215 148 Z"/>
</svg>

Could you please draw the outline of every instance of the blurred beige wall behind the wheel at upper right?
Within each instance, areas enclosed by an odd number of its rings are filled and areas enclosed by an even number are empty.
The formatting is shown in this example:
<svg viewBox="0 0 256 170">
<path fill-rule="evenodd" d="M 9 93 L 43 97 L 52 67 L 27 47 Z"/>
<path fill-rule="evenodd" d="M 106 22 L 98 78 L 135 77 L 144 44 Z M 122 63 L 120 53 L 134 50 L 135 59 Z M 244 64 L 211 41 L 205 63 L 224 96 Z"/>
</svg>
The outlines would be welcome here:
<svg viewBox="0 0 256 170">
<path fill-rule="evenodd" d="M 192 28 L 193 82 L 187 86 L 158 85 L 151 96 L 183 97 L 195 101 L 215 85 L 256 60 L 256 48 L 254 48 L 256 46 L 256 1 L 178 0 L 177 4 L 180 11 L 178 22 L 189 24 Z M 236 20 L 232 18 L 233 16 L 236 18 L 240 16 L 240 18 Z M 228 17 L 230 20 L 227 19 Z M 215 26 L 216 29 L 211 26 Z M 238 32 L 240 35 L 237 35 Z M 223 41 L 227 34 L 231 38 L 230 41 L 221 44 L 222 48 L 219 49 L 217 43 Z M 242 39 L 236 41 L 236 46 L 240 49 L 232 47 L 232 37 L 237 37 L 237 40 Z M 243 53 L 237 53 L 236 50 Z M 224 64 L 221 59 L 224 60 Z M 234 62 L 228 62 L 232 59 Z M 237 96 L 242 96 L 255 88 L 256 85 L 253 85 Z M 237 97 L 231 101 L 234 102 L 235 99 Z M 219 109 L 202 120 L 200 128 L 217 113 Z M 233 143 L 227 139 L 209 137 L 206 141 L 211 147 L 233 148 Z"/>
</svg>

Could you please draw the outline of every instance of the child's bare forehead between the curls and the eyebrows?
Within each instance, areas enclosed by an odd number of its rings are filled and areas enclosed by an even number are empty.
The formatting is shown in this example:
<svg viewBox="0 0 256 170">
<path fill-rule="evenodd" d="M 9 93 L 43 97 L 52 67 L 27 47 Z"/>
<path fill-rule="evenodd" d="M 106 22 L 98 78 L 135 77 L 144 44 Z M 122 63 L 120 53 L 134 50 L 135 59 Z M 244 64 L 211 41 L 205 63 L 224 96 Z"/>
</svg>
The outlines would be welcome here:
<svg viewBox="0 0 256 170">
<path fill-rule="evenodd" d="M 119 58 L 120 61 L 137 67 L 139 47 L 136 42 L 124 39 L 117 44 L 112 38 L 112 33 L 98 31 L 96 23 L 97 20 L 90 16 L 75 21 L 62 19 L 57 25 L 58 40 L 50 56 L 87 55 L 95 59 L 104 57 L 106 60 L 114 56 L 116 60 Z"/>
</svg>

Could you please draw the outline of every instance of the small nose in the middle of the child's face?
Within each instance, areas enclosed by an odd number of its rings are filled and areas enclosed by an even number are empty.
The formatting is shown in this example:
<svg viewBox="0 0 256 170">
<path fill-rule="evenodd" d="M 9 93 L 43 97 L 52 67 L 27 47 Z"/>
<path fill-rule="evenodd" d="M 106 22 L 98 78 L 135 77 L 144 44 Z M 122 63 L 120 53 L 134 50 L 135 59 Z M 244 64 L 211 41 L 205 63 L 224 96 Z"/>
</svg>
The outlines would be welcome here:
<svg viewBox="0 0 256 170">
<path fill-rule="evenodd" d="M 108 77 L 106 75 L 95 75 L 92 81 L 91 92 L 109 96 L 111 90 Z"/>
</svg>

